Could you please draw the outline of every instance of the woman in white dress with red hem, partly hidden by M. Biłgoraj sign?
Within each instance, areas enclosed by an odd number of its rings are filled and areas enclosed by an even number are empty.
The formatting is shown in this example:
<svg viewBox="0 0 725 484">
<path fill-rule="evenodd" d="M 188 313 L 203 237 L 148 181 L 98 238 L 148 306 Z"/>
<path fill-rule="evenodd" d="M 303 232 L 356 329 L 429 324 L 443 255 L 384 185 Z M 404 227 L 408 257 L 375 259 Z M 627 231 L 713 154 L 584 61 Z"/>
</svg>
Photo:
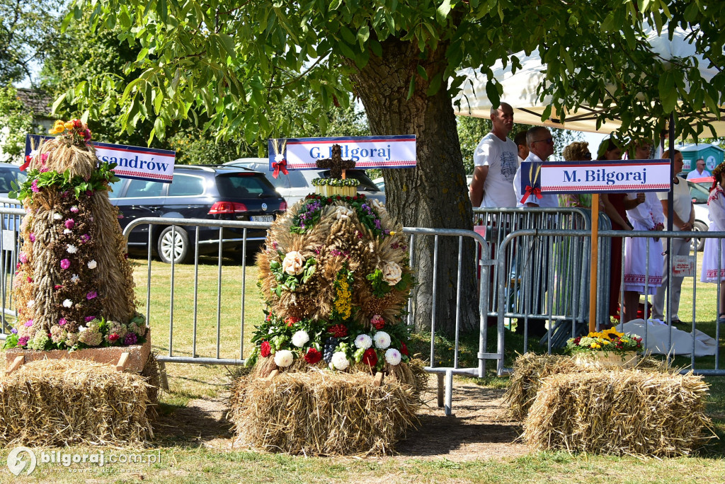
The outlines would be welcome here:
<svg viewBox="0 0 725 484">
<path fill-rule="evenodd" d="M 634 147 L 635 159 L 649 159 L 650 146 L 639 143 Z M 642 201 L 627 210 L 634 230 L 664 230 L 665 217 L 657 193 L 627 193 L 626 199 Z M 644 199 L 644 200 L 643 200 Z M 647 245 L 650 253 L 647 256 Z M 639 296 L 655 294 L 662 285 L 662 241 L 660 238 L 628 237 L 624 239 L 624 322 L 637 319 Z M 647 290 L 645 292 L 645 289 Z M 647 319 L 645 315 L 645 319 Z"/>
</svg>

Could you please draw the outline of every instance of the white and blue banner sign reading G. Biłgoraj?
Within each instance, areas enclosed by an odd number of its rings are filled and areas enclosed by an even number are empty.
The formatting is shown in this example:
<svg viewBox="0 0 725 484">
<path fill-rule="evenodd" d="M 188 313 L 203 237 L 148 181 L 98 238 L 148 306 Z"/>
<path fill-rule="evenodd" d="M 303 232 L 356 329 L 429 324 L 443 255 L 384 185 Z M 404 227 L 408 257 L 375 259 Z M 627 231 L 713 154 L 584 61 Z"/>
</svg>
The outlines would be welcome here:
<svg viewBox="0 0 725 484">
<path fill-rule="evenodd" d="M 290 170 L 315 170 L 316 162 L 332 157 L 332 145 L 339 144 L 342 159 L 355 162 L 355 167 L 408 168 L 415 167 L 415 135 L 348 136 L 340 138 L 270 139 L 270 171 L 273 163 L 286 161 Z"/>
</svg>

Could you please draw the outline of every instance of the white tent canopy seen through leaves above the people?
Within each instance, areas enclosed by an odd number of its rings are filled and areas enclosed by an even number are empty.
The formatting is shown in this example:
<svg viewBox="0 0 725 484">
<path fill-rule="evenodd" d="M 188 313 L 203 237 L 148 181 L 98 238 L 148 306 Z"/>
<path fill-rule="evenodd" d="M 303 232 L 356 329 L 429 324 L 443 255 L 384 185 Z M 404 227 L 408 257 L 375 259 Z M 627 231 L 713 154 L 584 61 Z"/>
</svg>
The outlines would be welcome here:
<svg viewBox="0 0 725 484">
<path fill-rule="evenodd" d="M 706 67 L 709 62 L 695 53 L 695 45 L 688 43 L 685 36 L 684 30 L 677 29 L 670 41 L 666 33 L 658 36 L 655 31 L 652 31 L 647 37 L 647 41 L 652 46 L 653 52 L 662 59 L 695 57 L 700 68 L 700 75 L 703 80 L 709 82 L 717 73 L 716 68 Z M 607 120 L 597 130 L 596 114 L 601 112 L 601 106 L 580 107 L 576 112 L 567 112 L 566 121 L 563 123 L 554 112 L 548 120 L 542 121 L 542 113 L 551 102 L 550 96 L 541 100 L 537 95 L 537 88 L 544 80 L 546 67 L 542 64 L 541 57 L 536 51 L 529 56 L 523 52 L 518 52 L 515 56 L 521 62 L 521 68 L 516 70 L 515 74 L 511 72 L 511 62 L 503 67 L 503 63 L 497 61 L 492 67 L 494 78 L 503 86 L 501 101 L 505 101 L 513 107 L 515 122 L 590 133 L 610 133 L 619 128 L 618 120 Z M 453 99 L 455 114 L 488 118 L 492 106 L 486 96 L 486 75 L 482 74 L 480 70 L 472 68 L 460 70 L 458 73 L 465 75 L 466 79 L 460 87 L 460 92 Z M 459 100 L 460 107 L 456 106 Z M 725 136 L 725 120 L 713 121 L 711 124 L 718 135 Z M 708 130 L 705 130 L 705 135 L 707 133 Z"/>
</svg>

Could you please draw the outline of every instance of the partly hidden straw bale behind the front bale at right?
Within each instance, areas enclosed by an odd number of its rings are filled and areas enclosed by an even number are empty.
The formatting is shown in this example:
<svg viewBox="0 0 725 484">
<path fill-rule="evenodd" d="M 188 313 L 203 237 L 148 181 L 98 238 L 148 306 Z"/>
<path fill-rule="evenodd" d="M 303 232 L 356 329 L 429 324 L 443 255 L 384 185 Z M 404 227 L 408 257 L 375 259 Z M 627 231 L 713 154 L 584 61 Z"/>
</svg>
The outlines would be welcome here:
<svg viewBox="0 0 725 484">
<path fill-rule="evenodd" d="M 635 367 L 645 372 L 679 372 L 679 368 L 667 367 L 666 362 L 651 357 L 639 359 Z M 612 367 L 610 370 L 623 371 L 624 369 Z M 591 371 L 591 365 L 581 364 L 575 356 L 536 353 L 519 356 L 513 363 L 513 374 L 504 395 L 504 403 L 508 406 L 509 417 L 518 421 L 526 418 L 529 407 L 536 399 L 537 391 L 545 377 L 560 373 Z"/>
</svg>

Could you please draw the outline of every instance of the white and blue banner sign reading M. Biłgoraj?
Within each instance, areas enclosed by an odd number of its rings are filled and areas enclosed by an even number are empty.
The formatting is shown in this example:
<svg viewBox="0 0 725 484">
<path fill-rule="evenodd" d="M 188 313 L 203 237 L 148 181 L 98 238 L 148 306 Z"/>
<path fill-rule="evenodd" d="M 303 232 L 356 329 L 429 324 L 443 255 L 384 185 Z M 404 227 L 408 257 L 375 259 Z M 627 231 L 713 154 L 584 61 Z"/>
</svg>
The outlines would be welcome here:
<svg viewBox="0 0 725 484">
<path fill-rule="evenodd" d="M 542 193 L 669 191 L 671 185 L 668 159 L 546 162 L 533 168 L 532 164 L 521 164 L 521 193 L 527 185 Z"/>
</svg>

